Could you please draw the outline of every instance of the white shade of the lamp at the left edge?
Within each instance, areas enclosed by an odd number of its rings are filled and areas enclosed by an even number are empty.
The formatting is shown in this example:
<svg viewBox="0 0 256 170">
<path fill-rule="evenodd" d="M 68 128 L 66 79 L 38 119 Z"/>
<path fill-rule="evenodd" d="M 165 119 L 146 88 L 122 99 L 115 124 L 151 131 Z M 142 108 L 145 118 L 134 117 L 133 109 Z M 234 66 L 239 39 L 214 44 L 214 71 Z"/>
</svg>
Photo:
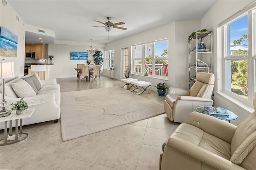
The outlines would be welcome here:
<svg viewBox="0 0 256 170">
<path fill-rule="evenodd" d="M 0 79 L 15 77 L 14 62 L 0 62 Z"/>
</svg>

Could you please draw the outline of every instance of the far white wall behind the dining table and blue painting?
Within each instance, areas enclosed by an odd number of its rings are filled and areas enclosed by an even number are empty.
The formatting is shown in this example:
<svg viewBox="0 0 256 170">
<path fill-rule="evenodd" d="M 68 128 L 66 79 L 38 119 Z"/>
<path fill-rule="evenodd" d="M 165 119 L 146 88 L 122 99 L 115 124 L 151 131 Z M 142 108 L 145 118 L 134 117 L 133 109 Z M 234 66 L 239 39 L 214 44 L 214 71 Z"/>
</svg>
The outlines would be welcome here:
<svg viewBox="0 0 256 170">
<path fill-rule="evenodd" d="M 72 43 L 72 42 L 70 42 Z M 103 44 L 105 45 L 105 44 Z M 48 54 L 54 55 L 52 60 L 54 65 L 50 69 L 50 78 L 61 78 L 61 77 L 76 77 L 77 72 L 74 70 L 77 64 L 85 64 L 86 60 L 70 60 L 70 52 L 86 52 L 89 45 L 67 45 L 67 44 L 49 44 Z M 104 53 L 104 47 L 94 46 L 94 49 L 98 49 Z M 88 60 L 94 63 L 94 58 L 88 55 Z"/>
</svg>

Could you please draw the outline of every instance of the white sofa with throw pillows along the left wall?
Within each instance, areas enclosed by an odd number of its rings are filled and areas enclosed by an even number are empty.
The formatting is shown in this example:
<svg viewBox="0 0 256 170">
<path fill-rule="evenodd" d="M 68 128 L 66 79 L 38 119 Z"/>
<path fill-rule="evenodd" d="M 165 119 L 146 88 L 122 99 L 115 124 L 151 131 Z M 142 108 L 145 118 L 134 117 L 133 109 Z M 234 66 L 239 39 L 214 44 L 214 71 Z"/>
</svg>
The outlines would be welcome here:
<svg viewBox="0 0 256 170">
<path fill-rule="evenodd" d="M 57 84 L 56 79 L 40 80 L 37 74 L 32 76 L 33 78 L 36 76 L 38 78 L 38 82 L 40 83 L 39 86 L 41 88 L 38 91 L 35 89 L 37 93 L 34 91 L 28 81 L 24 80 L 24 78 L 26 79 L 27 77 L 30 77 L 30 75 L 16 77 L 15 79 L 8 81 L 6 80 L 4 86 L 5 99 L 8 102 L 6 109 L 10 110 L 11 103 L 16 103 L 21 99 L 21 97 L 24 97 L 23 100 L 28 103 L 28 107 L 34 107 L 35 110 L 31 117 L 23 119 L 23 125 L 30 125 L 52 120 L 54 120 L 54 123 L 57 123 L 58 119 L 60 118 L 60 85 Z M 32 78 L 32 76 L 30 78 Z M 2 89 L 2 87 L 0 89 Z M 0 93 L 0 97 L 2 99 L 2 90 L 0 90 Z M 17 95 L 17 93 L 21 94 Z M 13 113 L 16 114 L 16 111 L 12 111 L 12 114 Z M 4 129 L 4 124 L 4 122 L 0 123 L 0 129 Z M 12 127 L 15 127 L 15 121 L 13 121 Z"/>
</svg>

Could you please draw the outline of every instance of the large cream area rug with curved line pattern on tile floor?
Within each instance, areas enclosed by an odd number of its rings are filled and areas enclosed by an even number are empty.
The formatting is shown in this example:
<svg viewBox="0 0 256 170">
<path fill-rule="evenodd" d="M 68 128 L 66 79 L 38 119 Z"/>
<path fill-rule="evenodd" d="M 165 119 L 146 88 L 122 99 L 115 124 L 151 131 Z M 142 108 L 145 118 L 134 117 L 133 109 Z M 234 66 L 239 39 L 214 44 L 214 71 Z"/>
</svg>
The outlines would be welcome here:
<svg viewBox="0 0 256 170">
<path fill-rule="evenodd" d="M 61 93 L 62 140 L 71 140 L 164 113 L 164 106 L 121 87 Z"/>
</svg>

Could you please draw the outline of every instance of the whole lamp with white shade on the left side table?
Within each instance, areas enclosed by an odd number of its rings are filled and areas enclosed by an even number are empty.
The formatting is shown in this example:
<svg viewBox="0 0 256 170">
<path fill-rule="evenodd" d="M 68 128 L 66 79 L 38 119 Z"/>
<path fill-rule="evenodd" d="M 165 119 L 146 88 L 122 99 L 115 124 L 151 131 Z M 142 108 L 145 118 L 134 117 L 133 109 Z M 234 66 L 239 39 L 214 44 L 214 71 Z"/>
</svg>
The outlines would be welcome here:
<svg viewBox="0 0 256 170">
<path fill-rule="evenodd" d="M 4 62 L 3 59 L 0 62 L 0 78 L 2 79 L 2 102 L 1 102 L 1 111 L 0 117 L 9 116 L 11 111 L 8 111 L 6 108 L 7 101 L 4 99 L 4 85 L 6 78 L 15 77 L 14 75 L 14 62 Z"/>
</svg>

